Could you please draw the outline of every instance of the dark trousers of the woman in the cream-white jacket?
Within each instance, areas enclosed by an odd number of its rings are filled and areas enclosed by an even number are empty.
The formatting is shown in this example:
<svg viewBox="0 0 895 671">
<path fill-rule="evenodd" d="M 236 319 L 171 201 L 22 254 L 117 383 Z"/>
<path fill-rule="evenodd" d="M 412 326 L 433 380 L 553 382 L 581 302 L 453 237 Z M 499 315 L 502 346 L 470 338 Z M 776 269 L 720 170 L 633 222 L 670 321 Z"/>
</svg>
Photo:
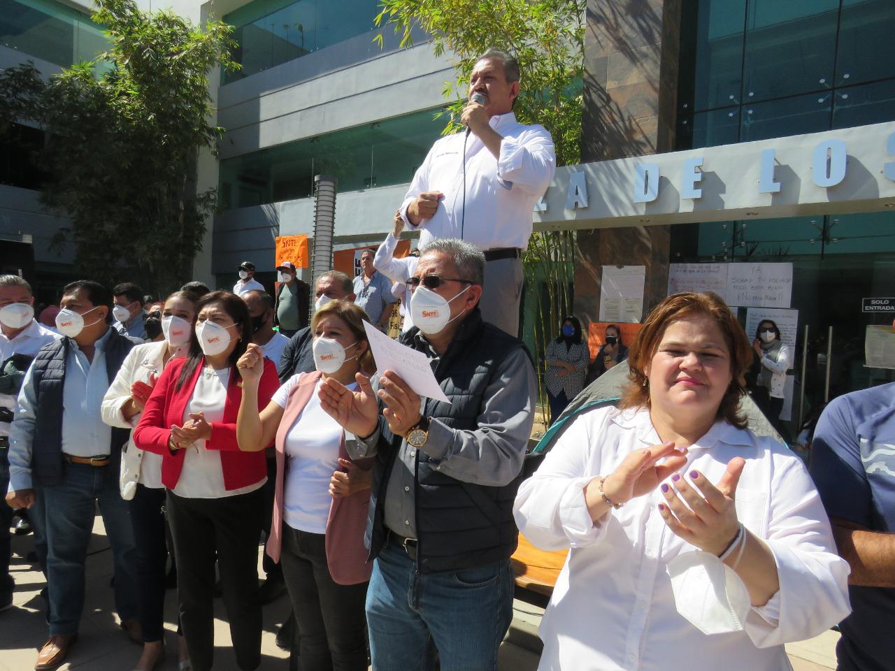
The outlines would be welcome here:
<svg viewBox="0 0 895 671">
<path fill-rule="evenodd" d="M 131 525 L 137 546 L 137 606 L 143 641 L 161 641 L 165 631 L 165 489 L 137 485 Z"/>
</svg>

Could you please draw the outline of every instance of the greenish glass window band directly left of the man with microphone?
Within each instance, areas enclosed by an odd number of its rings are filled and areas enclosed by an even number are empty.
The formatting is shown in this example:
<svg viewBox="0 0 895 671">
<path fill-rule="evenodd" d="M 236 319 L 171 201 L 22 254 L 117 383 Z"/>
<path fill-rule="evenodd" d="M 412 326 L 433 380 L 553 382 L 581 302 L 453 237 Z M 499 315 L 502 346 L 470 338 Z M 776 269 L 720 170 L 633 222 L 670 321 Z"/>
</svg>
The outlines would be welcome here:
<svg viewBox="0 0 895 671">
<path fill-rule="evenodd" d="M 338 178 L 339 191 L 410 182 L 444 128 L 423 110 L 220 162 L 220 207 L 308 198 L 315 174 Z"/>
</svg>

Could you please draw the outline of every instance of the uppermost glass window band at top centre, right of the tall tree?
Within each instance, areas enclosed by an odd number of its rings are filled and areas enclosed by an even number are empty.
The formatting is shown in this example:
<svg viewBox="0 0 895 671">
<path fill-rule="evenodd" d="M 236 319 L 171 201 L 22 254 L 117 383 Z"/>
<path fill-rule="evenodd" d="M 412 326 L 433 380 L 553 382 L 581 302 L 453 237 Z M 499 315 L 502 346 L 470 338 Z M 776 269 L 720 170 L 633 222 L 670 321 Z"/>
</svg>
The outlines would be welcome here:
<svg viewBox="0 0 895 671">
<path fill-rule="evenodd" d="M 255 0 L 224 21 L 234 25 L 234 61 L 242 69 L 224 72 L 222 83 L 241 80 L 373 30 L 378 0 Z"/>
</svg>

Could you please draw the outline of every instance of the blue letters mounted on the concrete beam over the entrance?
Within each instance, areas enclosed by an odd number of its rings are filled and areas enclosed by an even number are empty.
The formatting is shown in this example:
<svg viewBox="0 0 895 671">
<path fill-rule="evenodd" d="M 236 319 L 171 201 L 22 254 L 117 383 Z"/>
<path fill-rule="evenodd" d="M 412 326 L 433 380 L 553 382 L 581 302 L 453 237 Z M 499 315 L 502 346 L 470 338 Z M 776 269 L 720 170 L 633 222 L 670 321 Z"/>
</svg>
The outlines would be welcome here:
<svg viewBox="0 0 895 671">
<path fill-rule="evenodd" d="M 717 150 L 721 148 L 713 147 L 707 149 Z M 743 145 L 729 145 L 725 149 L 742 151 Z M 886 140 L 886 151 L 890 157 L 895 158 L 895 132 L 892 132 Z M 777 149 L 761 150 L 757 183 L 757 193 L 759 194 L 780 193 L 781 183 L 775 178 L 775 168 L 779 166 L 776 162 L 776 154 Z M 663 156 L 671 157 L 673 155 Z M 712 157 L 712 159 L 717 160 L 717 157 Z M 683 159 L 680 183 L 678 184 L 681 200 L 698 200 L 703 197 L 703 160 L 703 156 Z M 811 180 L 816 186 L 828 189 L 842 183 L 846 177 L 848 167 L 848 151 L 845 140 L 825 139 L 817 142 L 812 152 L 811 164 Z M 895 182 L 895 160 L 883 163 L 882 174 L 886 179 Z M 632 190 L 630 195 L 633 202 L 649 203 L 657 200 L 660 193 L 660 179 L 661 166 L 658 163 L 637 163 L 635 165 L 633 184 L 630 187 Z M 587 173 L 584 171 L 570 172 L 568 174 L 565 208 L 569 210 L 588 208 L 587 187 Z M 543 198 L 535 205 L 534 211 L 547 211 L 547 203 Z"/>
</svg>

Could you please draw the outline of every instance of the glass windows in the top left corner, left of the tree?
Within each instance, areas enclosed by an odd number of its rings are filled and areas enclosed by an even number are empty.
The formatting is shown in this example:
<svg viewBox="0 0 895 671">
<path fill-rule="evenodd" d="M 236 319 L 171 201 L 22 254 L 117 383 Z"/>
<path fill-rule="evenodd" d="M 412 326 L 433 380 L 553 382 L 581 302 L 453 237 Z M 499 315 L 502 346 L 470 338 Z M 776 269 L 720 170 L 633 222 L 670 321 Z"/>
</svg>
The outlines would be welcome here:
<svg viewBox="0 0 895 671">
<path fill-rule="evenodd" d="M 87 14 L 52 0 L 0 0 L 0 45 L 69 67 L 108 47 Z"/>
</svg>

